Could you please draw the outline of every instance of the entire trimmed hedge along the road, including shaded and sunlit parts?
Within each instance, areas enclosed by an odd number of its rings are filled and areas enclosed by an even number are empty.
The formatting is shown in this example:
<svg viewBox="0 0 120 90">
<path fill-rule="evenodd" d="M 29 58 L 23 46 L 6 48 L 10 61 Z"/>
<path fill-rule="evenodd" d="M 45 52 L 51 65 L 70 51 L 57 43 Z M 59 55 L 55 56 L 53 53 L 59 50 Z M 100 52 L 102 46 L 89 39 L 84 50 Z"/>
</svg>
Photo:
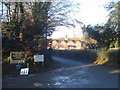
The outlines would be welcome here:
<svg viewBox="0 0 120 90">
<path fill-rule="evenodd" d="M 108 64 L 118 66 L 120 50 L 90 51 L 90 50 L 53 50 L 53 56 L 76 59 L 96 64 Z"/>
</svg>

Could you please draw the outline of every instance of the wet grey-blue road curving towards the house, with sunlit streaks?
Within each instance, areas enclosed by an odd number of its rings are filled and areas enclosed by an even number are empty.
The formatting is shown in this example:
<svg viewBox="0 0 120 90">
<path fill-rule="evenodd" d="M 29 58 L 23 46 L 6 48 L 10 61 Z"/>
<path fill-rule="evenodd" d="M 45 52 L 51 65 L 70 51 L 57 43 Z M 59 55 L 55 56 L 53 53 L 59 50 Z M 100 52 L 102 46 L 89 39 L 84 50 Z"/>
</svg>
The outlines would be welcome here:
<svg viewBox="0 0 120 90">
<path fill-rule="evenodd" d="M 3 76 L 3 88 L 118 88 L 115 67 L 52 57 L 60 67 L 28 76 Z"/>
</svg>

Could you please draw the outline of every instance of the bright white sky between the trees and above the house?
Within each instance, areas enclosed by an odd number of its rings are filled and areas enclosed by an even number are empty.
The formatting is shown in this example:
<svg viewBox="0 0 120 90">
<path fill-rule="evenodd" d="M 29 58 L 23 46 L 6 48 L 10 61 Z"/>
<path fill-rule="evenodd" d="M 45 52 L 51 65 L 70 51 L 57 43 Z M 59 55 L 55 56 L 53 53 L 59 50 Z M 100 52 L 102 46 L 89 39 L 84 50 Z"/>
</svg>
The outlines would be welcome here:
<svg viewBox="0 0 120 90">
<path fill-rule="evenodd" d="M 80 4 L 78 12 L 71 13 L 71 18 L 81 21 L 85 25 L 103 25 L 108 20 L 109 11 L 104 8 L 104 5 L 111 1 L 117 0 L 74 0 L 74 3 Z M 50 38 L 63 38 L 66 35 L 69 38 L 83 37 L 82 29 L 80 24 L 75 23 L 75 28 L 67 28 L 65 26 L 57 27 L 56 31 L 51 35 Z"/>
</svg>

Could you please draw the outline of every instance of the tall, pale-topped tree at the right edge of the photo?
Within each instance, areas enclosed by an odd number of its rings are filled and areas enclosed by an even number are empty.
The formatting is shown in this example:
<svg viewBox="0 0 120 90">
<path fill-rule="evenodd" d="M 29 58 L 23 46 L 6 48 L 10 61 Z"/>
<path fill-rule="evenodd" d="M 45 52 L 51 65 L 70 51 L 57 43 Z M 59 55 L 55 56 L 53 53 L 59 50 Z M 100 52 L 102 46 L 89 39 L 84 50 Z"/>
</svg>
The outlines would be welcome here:
<svg viewBox="0 0 120 90">
<path fill-rule="evenodd" d="M 120 1 L 108 4 L 107 7 L 110 10 L 108 22 L 105 24 L 105 31 L 109 32 L 109 42 L 114 43 L 114 47 L 118 47 L 120 44 Z M 112 47 L 113 45 L 111 45 Z"/>
</svg>

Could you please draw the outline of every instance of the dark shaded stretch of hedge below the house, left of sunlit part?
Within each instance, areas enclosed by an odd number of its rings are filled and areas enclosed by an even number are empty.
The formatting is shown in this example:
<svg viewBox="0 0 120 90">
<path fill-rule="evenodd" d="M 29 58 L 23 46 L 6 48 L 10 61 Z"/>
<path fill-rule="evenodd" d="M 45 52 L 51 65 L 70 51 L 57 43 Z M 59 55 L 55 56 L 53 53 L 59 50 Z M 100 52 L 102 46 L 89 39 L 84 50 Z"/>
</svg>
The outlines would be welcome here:
<svg viewBox="0 0 120 90">
<path fill-rule="evenodd" d="M 96 52 L 90 50 L 53 50 L 52 55 L 88 62 L 95 61 L 97 57 Z"/>
</svg>

